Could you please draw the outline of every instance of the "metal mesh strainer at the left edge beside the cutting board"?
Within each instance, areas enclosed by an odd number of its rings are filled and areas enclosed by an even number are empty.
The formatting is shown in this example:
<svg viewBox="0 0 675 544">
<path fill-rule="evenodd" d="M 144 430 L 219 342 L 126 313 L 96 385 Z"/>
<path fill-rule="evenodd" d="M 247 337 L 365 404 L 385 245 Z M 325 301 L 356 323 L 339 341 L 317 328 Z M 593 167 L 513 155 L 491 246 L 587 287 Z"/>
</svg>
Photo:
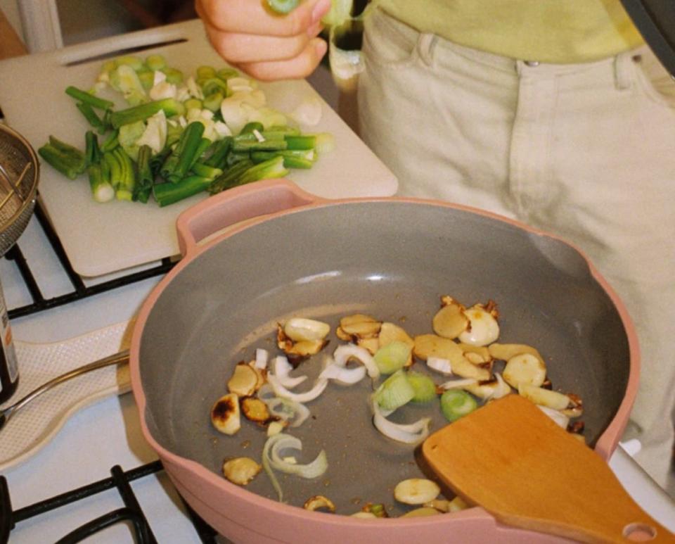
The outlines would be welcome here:
<svg viewBox="0 0 675 544">
<path fill-rule="evenodd" d="M 0 256 L 14 245 L 30 220 L 39 169 L 28 141 L 0 123 Z"/>
</svg>

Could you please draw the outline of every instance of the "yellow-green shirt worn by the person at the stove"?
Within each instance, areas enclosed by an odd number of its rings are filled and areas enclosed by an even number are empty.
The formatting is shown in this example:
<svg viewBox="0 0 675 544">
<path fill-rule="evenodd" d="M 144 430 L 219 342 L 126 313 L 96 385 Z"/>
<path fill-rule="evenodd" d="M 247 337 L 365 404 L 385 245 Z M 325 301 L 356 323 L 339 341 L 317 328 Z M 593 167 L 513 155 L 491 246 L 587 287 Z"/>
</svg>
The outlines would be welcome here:
<svg viewBox="0 0 675 544">
<path fill-rule="evenodd" d="M 394 18 L 524 61 L 596 61 L 643 44 L 619 0 L 380 0 Z"/>
</svg>

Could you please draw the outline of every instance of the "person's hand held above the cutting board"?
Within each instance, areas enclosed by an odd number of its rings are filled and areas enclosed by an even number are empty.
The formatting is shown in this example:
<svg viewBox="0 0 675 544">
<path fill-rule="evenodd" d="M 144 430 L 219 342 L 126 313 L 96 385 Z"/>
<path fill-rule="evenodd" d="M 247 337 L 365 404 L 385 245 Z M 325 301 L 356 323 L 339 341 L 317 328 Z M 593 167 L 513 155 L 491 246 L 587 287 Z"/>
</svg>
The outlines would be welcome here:
<svg viewBox="0 0 675 544">
<path fill-rule="evenodd" d="M 307 77 L 326 54 L 317 37 L 330 0 L 304 0 L 278 15 L 266 0 L 195 0 L 214 49 L 257 80 Z"/>
</svg>

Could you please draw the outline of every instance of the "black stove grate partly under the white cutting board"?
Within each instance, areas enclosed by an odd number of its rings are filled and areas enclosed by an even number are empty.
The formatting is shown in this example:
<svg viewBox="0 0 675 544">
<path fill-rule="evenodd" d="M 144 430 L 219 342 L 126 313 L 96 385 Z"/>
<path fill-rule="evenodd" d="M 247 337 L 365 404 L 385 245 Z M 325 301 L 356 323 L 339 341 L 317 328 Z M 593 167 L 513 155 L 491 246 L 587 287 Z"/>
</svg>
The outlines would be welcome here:
<svg viewBox="0 0 675 544">
<path fill-rule="evenodd" d="M 99 284 L 87 286 L 84 283 L 82 277 L 77 274 L 75 270 L 73 270 L 70 260 L 68 259 L 68 255 L 66 255 L 65 249 L 58 238 L 58 234 L 56 234 L 56 231 L 51 226 L 51 223 L 49 222 L 49 219 L 47 218 L 47 215 L 44 211 L 44 208 L 42 208 L 39 199 L 35 204 L 34 215 L 37 218 L 41 229 L 44 231 L 44 234 L 49 241 L 54 254 L 58 258 L 61 267 L 63 267 L 63 271 L 68 276 L 70 284 L 72 284 L 72 291 L 53 298 L 44 298 L 26 258 L 21 252 L 18 243 L 16 243 L 9 251 L 7 251 L 7 253 L 5 253 L 4 256 L 8 260 L 13 261 L 18 268 L 23 282 L 30 293 L 32 303 L 20 306 L 18 308 L 10 308 L 10 310 L 8 310 L 10 319 L 34 314 L 36 312 L 41 312 L 42 310 L 49 310 L 49 308 L 55 308 L 56 306 L 65 305 L 82 300 L 82 298 L 97 295 L 98 293 L 111 291 L 112 289 L 117 289 L 118 287 L 140 282 L 143 279 L 159 276 L 169 272 L 169 270 L 171 270 L 174 265 L 176 265 L 176 260 L 172 260 L 172 258 L 167 257 L 162 259 L 159 265 L 150 267 L 146 270 L 129 272 L 129 274 L 108 280 L 107 282 L 101 282 Z"/>
</svg>

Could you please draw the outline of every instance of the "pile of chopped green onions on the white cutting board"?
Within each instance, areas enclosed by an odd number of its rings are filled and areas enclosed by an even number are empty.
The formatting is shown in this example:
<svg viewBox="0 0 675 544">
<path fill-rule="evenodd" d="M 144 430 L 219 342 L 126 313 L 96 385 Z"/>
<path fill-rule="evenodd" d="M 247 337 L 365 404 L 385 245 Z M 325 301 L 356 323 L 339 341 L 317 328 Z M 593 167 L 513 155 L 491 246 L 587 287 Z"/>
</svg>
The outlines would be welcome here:
<svg viewBox="0 0 675 544">
<path fill-rule="evenodd" d="M 128 107 L 115 110 L 115 102 L 98 96 L 110 90 Z M 98 203 L 147 203 L 152 196 L 166 206 L 217 194 L 309 169 L 332 147 L 330 134 L 302 134 L 234 68 L 203 65 L 186 76 L 162 55 L 122 56 L 103 63 L 90 91 L 70 85 L 65 93 L 91 126 L 84 151 L 50 135 L 38 153 L 70 179 L 86 173 Z M 320 107 L 298 111 L 304 125 L 321 120 Z"/>
</svg>

